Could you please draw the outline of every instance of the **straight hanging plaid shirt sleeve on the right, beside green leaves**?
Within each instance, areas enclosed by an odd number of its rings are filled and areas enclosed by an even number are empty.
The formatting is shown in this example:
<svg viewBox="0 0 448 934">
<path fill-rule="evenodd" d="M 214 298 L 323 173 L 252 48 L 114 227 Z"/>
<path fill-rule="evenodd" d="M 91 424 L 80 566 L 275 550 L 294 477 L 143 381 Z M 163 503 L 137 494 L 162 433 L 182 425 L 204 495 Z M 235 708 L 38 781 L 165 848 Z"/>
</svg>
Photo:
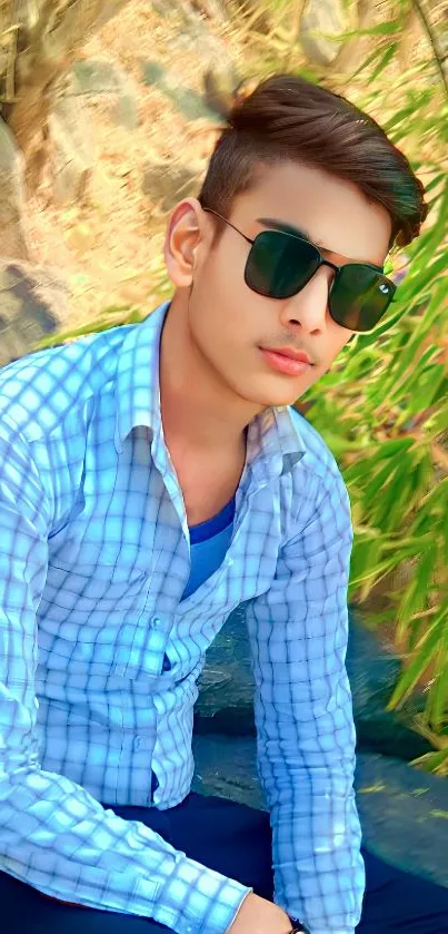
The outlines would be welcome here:
<svg viewBox="0 0 448 934">
<path fill-rule="evenodd" d="M 311 934 L 354 934 L 365 864 L 345 665 L 352 529 L 339 471 L 306 500 L 269 592 L 247 610 L 258 770 L 271 816 L 275 901 Z"/>
</svg>

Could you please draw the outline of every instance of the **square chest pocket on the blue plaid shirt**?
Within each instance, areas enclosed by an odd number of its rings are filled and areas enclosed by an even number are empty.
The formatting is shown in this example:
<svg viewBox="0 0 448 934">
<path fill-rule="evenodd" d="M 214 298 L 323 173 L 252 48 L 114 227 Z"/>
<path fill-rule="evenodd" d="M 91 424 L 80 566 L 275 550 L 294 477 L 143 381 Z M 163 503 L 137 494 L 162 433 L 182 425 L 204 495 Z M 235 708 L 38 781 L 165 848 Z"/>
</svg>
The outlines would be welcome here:
<svg viewBox="0 0 448 934">
<path fill-rule="evenodd" d="M 106 676 L 136 667 L 132 648 L 149 586 L 148 573 L 121 559 L 73 567 L 56 558 L 39 607 L 39 663 Z"/>
</svg>

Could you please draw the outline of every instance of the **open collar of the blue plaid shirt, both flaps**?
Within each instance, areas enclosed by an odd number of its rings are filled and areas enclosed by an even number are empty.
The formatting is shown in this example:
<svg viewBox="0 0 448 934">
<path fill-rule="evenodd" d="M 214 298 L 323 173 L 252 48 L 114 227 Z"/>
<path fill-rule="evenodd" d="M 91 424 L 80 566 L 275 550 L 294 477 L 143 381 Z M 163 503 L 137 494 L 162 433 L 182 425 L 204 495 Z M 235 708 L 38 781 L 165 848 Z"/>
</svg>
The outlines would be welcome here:
<svg viewBox="0 0 448 934">
<path fill-rule="evenodd" d="M 161 433 L 159 353 L 170 302 L 159 305 L 132 326 L 119 351 L 116 378 L 116 449 L 121 453 L 132 429 L 145 425 Z M 259 479 L 288 472 L 301 460 L 306 446 L 289 406 L 268 409 L 248 431 L 248 466 Z"/>
</svg>

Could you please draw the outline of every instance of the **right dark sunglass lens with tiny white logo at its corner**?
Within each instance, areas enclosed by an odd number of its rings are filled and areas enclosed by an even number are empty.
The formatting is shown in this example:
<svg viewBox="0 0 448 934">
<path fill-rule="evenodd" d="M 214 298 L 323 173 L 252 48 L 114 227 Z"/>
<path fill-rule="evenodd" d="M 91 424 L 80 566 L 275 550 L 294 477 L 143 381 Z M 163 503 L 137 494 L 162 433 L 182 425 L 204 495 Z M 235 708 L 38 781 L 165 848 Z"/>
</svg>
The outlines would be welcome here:
<svg viewBox="0 0 448 934">
<path fill-rule="evenodd" d="M 330 292 L 331 316 L 350 331 L 371 331 L 387 312 L 395 291 L 394 283 L 369 266 L 342 266 Z"/>
</svg>

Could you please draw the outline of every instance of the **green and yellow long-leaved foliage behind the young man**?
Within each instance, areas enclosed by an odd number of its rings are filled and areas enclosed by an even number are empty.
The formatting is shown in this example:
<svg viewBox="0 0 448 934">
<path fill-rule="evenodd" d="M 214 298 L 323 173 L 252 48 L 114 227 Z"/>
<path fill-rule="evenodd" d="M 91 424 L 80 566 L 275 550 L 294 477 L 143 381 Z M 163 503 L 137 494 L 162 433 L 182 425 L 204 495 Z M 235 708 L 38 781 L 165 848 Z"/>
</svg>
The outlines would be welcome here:
<svg viewBox="0 0 448 934">
<path fill-rule="evenodd" d="M 232 27 L 243 33 L 248 69 L 262 76 L 287 66 L 318 80 L 321 70 L 303 61 L 296 41 L 303 3 L 266 0 L 256 7 L 269 17 L 269 30 L 251 30 L 250 16 Z M 342 37 L 369 40 L 362 65 L 348 73 L 328 71 L 333 89 L 345 94 L 349 88 L 348 96 L 408 155 L 426 181 L 430 213 L 406 255 L 390 257 L 395 271 L 404 266 L 406 276 L 387 321 L 352 338 L 299 407 L 333 451 L 349 489 L 355 527 L 350 599 L 366 604 L 379 586 L 387 598 L 370 619 L 392 626 L 406 660 L 390 707 L 401 705 L 422 680 L 427 684 L 427 706 L 416 728 L 437 751 L 418 765 L 448 775 L 447 86 L 436 31 L 422 4 L 399 0 L 386 7 L 389 18 L 358 30 L 355 24 Z M 408 60 L 402 50 L 416 14 L 426 45 Z M 155 292 L 166 297 L 162 265 L 153 273 Z M 143 316 L 136 307 L 108 308 L 77 334 Z"/>
</svg>

